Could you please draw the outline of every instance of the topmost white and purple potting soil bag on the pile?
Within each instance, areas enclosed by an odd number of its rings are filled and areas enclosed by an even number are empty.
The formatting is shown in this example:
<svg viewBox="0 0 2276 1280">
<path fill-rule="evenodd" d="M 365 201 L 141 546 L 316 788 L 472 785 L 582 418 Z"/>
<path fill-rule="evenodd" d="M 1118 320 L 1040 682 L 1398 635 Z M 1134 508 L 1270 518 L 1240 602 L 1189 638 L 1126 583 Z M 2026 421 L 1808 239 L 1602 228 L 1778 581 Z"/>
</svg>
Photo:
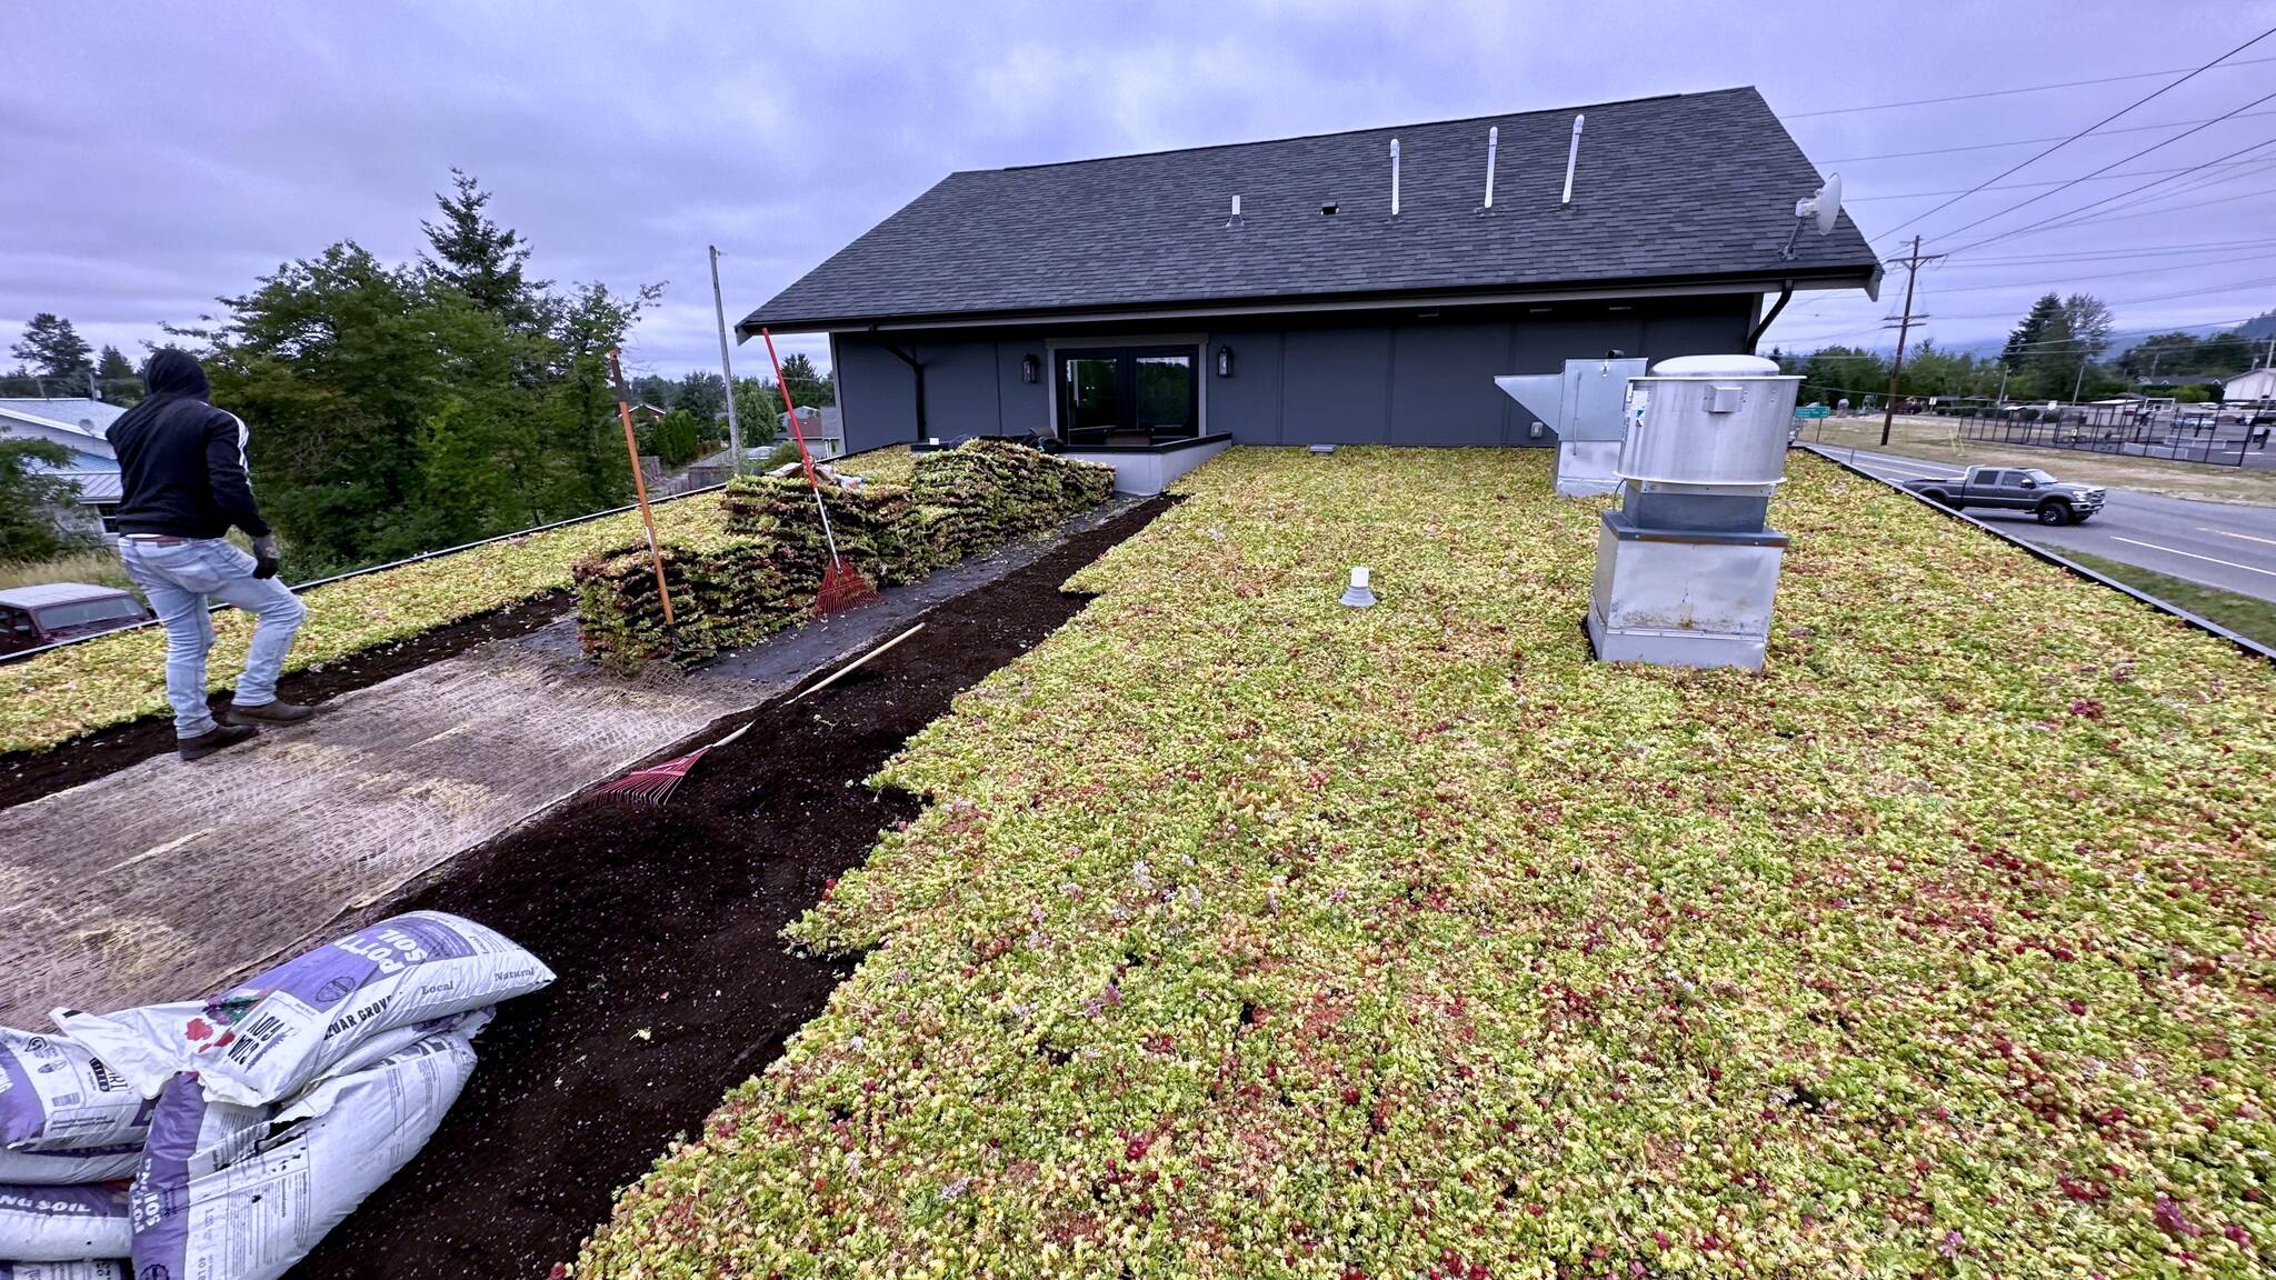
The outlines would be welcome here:
<svg viewBox="0 0 2276 1280">
<path fill-rule="evenodd" d="M 442 911 L 357 929 L 205 1004 L 146 1004 L 55 1023 L 143 1093 L 196 1070 L 209 1098 L 291 1098 L 387 1032 L 528 995 L 553 970 L 503 934 Z M 405 1036 L 405 1043 L 417 1036 Z"/>
</svg>

